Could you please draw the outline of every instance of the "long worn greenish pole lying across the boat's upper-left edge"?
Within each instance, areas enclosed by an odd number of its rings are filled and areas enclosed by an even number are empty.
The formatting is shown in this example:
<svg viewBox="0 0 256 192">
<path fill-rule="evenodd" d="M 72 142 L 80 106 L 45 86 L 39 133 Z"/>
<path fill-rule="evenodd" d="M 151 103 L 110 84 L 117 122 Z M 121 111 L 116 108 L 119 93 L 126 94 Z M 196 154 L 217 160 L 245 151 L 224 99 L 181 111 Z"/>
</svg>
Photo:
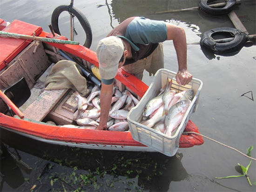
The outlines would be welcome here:
<svg viewBox="0 0 256 192">
<path fill-rule="evenodd" d="M 18 34 L 18 33 L 9 33 L 9 32 L 5 32 L 5 31 L 0 31 L 0 36 L 1 37 L 19 38 L 19 39 L 23 39 L 23 40 L 39 40 L 39 41 L 50 42 L 50 43 L 79 45 L 79 42 L 76 42 L 76 41 L 58 40 L 58 39 L 51 39 L 51 38 L 45 38 L 45 37 L 36 37 L 36 36 L 23 35 L 23 34 Z"/>
</svg>

